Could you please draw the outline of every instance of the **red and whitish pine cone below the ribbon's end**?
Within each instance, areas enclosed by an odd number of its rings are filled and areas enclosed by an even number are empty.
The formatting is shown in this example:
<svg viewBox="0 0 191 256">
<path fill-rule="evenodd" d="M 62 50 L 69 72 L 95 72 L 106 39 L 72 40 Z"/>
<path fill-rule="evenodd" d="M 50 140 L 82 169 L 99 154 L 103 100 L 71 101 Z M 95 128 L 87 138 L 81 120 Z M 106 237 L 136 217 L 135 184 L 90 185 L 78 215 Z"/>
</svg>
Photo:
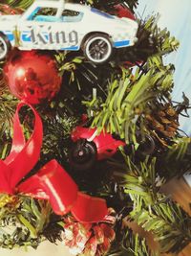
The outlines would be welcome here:
<svg viewBox="0 0 191 256">
<path fill-rule="evenodd" d="M 115 221 L 113 209 L 99 223 L 81 223 L 69 216 L 65 219 L 63 242 L 77 256 L 106 255 L 116 236 Z"/>
</svg>

